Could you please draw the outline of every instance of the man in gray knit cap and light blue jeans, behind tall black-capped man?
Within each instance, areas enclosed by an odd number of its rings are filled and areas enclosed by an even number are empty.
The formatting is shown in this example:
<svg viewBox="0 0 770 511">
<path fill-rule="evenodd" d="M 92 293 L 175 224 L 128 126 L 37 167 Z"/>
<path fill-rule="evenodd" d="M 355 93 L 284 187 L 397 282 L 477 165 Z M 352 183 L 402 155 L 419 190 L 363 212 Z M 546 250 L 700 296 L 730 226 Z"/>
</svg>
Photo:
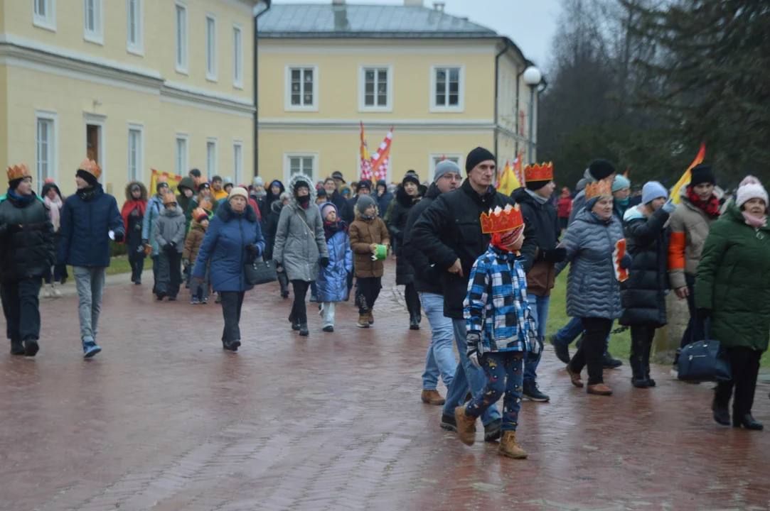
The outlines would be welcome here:
<svg viewBox="0 0 770 511">
<path fill-rule="evenodd" d="M 447 389 L 452 383 L 457 363 L 452 351 L 452 320 L 444 316 L 444 290 L 437 270 L 430 264 L 425 255 L 414 250 L 411 240 L 411 231 L 414 223 L 436 197 L 460 186 L 463 181 L 460 168 L 452 161 L 442 161 L 436 165 L 434 182 L 428 188 L 423 200 L 415 204 L 409 216 L 407 224 L 403 227 L 403 242 L 401 257 L 403 257 L 414 269 L 414 289 L 420 295 L 420 303 L 430 323 L 430 346 L 425 357 L 425 372 L 423 373 L 423 403 L 442 405 L 445 400 L 436 390 L 438 377 L 444 380 Z"/>
</svg>

